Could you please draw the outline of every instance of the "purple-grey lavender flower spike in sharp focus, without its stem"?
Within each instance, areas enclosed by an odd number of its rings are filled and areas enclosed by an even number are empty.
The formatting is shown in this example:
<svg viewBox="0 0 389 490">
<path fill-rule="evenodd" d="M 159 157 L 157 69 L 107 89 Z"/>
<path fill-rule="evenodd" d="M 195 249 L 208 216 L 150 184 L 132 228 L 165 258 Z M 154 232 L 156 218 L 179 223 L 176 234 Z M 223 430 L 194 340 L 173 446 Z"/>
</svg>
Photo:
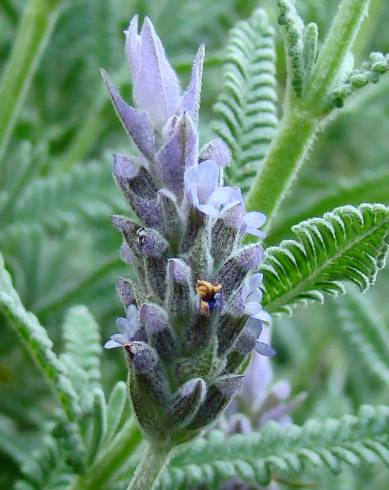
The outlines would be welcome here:
<svg viewBox="0 0 389 490">
<path fill-rule="evenodd" d="M 113 222 L 132 260 L 121 278 L 126 317 L 105 344 L 123 347 L 129 396 L 146 437 L 173 447 L 214 423 L 239 392 L 242 366 L 262 341 L 261 213 L 246 213 L 238 187 L 224 187 L 230 152 L 212 140 L 199 152 L 197 130 L 204 48 L 182 94 L 149 19 L 126 32 L 136 109 L 104 72 L 118 116 L 140 155 L 116 155 L 114 177 L 137 219 Z M 258 340 L 257 340 L 258 339 Z"/>
</svg>

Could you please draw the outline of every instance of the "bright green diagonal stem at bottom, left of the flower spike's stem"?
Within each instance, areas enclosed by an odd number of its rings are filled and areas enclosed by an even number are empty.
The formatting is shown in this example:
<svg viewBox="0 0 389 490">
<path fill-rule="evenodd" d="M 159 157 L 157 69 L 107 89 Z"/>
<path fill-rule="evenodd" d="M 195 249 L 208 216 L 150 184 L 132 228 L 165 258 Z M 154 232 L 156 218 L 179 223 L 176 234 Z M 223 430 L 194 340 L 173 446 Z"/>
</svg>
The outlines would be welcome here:
<svg viewBox="0 0 389 490">
<path fill-rule="evenodd" d="M 72 490 L 99 490 L 106 488 L 114 475 L 125 465 L 129 457 L 142 441 L 142 435 L 135 418 L 131 418 L 112 440 L 106 451 L 88 468 L 87 475 L 81 476 Z"/>
</svg>

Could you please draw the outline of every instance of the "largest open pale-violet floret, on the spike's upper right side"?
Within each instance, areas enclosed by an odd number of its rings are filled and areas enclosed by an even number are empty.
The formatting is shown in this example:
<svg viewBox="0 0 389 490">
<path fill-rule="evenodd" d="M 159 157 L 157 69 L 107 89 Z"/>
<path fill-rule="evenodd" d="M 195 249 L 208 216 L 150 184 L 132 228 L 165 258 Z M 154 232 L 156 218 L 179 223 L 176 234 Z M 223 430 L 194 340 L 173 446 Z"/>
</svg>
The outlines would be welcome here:
<svg viewBox="0 0 389 490">
<path fill-rule="evenodd" d="M 188 168 L 184 181 L 189 203 L 209 216 L 217 217 L 222 206 L 239 202 L 240 190 L 219 185 L 219 166 L 211 160 Z"/>
</svg>

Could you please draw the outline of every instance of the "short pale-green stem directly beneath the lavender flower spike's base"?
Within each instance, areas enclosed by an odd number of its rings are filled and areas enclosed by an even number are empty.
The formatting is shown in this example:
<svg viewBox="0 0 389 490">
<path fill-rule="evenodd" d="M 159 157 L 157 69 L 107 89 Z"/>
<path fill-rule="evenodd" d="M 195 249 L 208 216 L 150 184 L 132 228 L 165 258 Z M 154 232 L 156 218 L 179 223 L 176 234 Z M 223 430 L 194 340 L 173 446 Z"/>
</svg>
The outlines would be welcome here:
<svg viewBox="0 0 389 490">
<path fill-rule="evenodd" d="M 161 473 L 170 459 L 170 448 L 146 446 L 127 490 L 152 490 L 156 488 Z"/>
</svg>

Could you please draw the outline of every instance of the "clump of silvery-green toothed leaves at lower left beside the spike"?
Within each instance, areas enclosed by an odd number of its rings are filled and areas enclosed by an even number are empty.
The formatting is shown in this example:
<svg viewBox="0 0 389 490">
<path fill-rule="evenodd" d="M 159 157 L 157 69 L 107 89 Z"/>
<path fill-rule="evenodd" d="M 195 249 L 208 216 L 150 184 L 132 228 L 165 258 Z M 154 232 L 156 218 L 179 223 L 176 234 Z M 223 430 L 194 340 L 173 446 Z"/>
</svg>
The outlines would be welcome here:
<svg viewBox="0 0 389 490">
<path fill-rule="evenodd" d="M 117 385 L 107 407 L 100 387 L 99 331 L 85 307 L 74 307 L 69 311 L 64 325 L 65 352 L 58 357 L 46 330 L 20 302 L 3 260 L 0 283 L 0 309 L 48 379 L 62 409 L 52 419 L 45 438 L 23 470 L 28 480 L 35 484 L 40 482 L 40 488 L 51 488 L 53 481 L 58 483 L 57 478 L 68 482 L 73 473 L 92 464 L 116 434 L 124 409 L 123 387 Z M 88 390 L 85 390 L 86 386 Z M 18 457 L 12 446 L 9 451 Z"/>
</svg>

